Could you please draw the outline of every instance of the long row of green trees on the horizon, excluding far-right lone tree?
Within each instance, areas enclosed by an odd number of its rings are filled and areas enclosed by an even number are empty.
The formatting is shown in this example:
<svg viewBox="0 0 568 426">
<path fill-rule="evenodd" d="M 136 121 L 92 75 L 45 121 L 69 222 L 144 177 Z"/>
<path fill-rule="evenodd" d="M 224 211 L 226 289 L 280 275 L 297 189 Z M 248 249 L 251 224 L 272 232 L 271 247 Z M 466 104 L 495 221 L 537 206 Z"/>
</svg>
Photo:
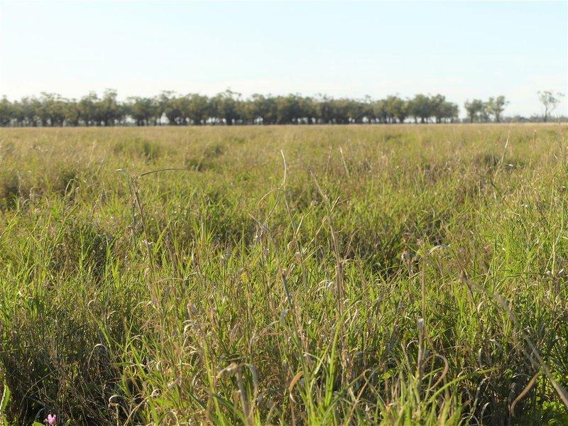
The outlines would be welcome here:
<svg viewBox="0 0 568 426">
<path fill-rule="evenodd" d="M 505 97 L 499 96 L 488 102 L 474 99 L 464 107 L 471 122 L 501 121 L 506 104 Z M 253 94 L 245 99 L 226 90 L 213 97 L 162 92 L 119 102 L 116 90 L 109 89 L 102 97 L 91 92 L 79 100 L 42 93 L 14 102 L 6 97 L 0 101 L 1 126 L 447 123 L 459 121 L 458 114 L 457 104 L 442 94 L 378 100 Z"/>
</svg>

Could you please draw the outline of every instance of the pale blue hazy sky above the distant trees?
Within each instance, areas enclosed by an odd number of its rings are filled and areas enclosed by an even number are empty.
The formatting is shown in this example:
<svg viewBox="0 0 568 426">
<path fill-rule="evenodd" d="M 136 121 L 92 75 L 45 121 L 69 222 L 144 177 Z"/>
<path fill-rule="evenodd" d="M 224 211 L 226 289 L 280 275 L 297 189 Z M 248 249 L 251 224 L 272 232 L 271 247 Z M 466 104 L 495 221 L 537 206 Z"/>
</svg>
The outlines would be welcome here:
<svg viewBox="0 0 568 426">
<path fill-rule="evenodd" d="M 0 0 L 0 95 L 568 95 L 568 1 Z M 567 98 L 557 114 L 568 116 Z"/>
</svg>

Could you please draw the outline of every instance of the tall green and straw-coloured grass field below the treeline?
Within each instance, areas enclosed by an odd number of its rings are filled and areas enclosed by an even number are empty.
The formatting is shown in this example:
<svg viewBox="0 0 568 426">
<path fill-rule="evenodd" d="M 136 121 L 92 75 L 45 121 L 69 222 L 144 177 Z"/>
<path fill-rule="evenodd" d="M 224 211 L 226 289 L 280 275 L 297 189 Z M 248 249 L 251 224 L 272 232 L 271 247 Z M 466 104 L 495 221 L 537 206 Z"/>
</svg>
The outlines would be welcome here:
<svg viewBox="0 0 568 426">
<path fill-rule="evenodd" d="M 0 419 L 566 425 L 567 136 L 1 129 Z"/>
</svg>

